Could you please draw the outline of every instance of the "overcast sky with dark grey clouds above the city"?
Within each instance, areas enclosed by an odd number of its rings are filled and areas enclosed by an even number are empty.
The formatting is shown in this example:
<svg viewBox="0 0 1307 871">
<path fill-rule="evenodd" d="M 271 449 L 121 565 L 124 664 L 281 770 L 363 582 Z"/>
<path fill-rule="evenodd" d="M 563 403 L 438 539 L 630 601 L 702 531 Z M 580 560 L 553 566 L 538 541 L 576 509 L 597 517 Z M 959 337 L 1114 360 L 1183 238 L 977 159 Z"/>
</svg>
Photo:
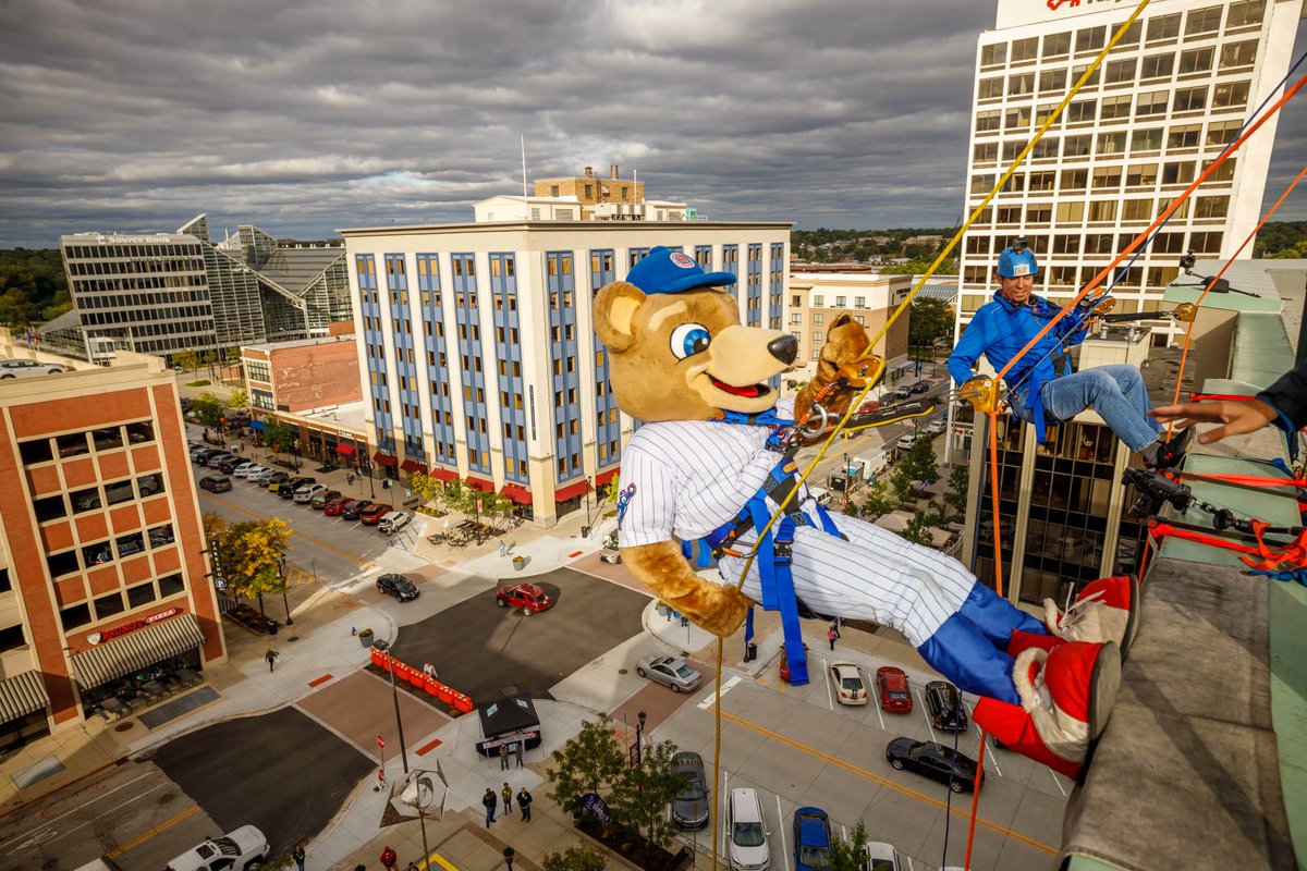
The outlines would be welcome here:
<svg viewBox="0 0 1307 871">
<path fill-rule="evenodd" d="M 712 218 L 951 226 L 993 21 L 962 0 L 0 0 L 0 247 L 200 212 L 305 239 L 469 221 L 521 191 L 521 135 L 532 178 L 618 163 Z M 1295 200 L 1280 217 L 1307 217 Z"/>
</svg>

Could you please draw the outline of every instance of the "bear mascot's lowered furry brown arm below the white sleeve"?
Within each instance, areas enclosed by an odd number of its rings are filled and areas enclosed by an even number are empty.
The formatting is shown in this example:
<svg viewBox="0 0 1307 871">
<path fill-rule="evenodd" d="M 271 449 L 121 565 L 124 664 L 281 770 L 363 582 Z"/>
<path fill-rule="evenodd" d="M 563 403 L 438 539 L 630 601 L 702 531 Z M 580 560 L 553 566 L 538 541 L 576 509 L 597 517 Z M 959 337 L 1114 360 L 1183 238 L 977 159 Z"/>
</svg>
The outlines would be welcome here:
<svg viewBox="0 0 1307 871">
<path fill-rule="evenodd" d="M 695 575 L 676 542 L 623 547 L 622 562 L 655 595 L 714 635 L 732 635 L 753 605 L 735 585 Z"/>
</svg>

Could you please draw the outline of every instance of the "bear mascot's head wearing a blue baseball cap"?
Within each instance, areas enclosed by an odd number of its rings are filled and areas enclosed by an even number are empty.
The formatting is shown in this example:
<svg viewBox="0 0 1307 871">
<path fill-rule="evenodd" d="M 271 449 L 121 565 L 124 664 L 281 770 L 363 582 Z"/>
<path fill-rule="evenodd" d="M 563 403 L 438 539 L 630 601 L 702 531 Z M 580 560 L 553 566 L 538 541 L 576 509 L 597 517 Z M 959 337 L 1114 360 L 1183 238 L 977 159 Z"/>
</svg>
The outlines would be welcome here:
<svg viewBox="0 0 1307 871">
<path fill-rule="evenodd" d="M 661 245 L 595 298 L 618 407 L 639 420 L 710 420 L 776 402 L 766 380 L 795 367 L 789 333 L 740 325 L 728 272 Z"/>
</svg>

